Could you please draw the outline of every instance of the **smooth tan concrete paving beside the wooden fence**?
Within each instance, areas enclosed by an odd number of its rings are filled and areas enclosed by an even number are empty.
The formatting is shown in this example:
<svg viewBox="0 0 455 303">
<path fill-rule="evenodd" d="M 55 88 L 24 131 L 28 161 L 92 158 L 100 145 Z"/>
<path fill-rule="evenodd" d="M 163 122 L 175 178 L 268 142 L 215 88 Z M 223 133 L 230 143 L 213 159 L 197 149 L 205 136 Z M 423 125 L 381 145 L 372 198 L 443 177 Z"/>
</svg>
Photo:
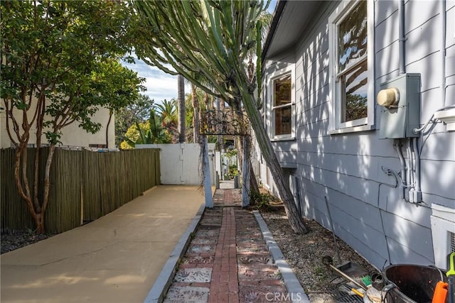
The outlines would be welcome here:
<svg viewBox="0 0 455 303">
<path fill-rule="evenodd" d="M 96 221 L 1 255 L 1 302 L 143 302 L 196 216 L 199 187 L 159 186 Z"/>
</svg>

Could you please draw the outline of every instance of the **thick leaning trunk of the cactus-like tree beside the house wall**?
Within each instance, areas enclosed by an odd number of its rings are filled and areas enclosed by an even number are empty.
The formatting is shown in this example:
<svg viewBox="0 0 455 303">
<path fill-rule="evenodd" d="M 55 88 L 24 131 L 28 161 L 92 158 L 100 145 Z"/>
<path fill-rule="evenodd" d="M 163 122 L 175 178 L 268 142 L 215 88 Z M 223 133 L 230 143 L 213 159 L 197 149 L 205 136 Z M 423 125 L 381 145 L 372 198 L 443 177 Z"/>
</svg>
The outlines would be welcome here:
<svg viewBox="0 0 455 303">
<path fill-rule="evenodd" d="M 286 211 L 289 219 L 291 228 L 296 233 L 307 233 L 304 221 L 302 221 L 299 210 L 294 202 L 291 189 L 289 187 L 289 181 L 284 178 L 282 167 L 279 165 L 277 155 L 275 155 L 272 143 L 270 142 L 267 131 L 265 131 L 264 124 L 262 123 L 259 110 L 256 107 L 256 102 L 252 94 L 242 91 L 242 97 L 244 99 L 245 110 L 247 111 L 248 118 L 250 119 L 253 131 L 255 131 L 256 140 L 261 149 L 262 156 L 267 162 L 272 177 L 279 192 L 279 197 L 282 199 L 284 204 L 284 210 Z"/>
</svg>

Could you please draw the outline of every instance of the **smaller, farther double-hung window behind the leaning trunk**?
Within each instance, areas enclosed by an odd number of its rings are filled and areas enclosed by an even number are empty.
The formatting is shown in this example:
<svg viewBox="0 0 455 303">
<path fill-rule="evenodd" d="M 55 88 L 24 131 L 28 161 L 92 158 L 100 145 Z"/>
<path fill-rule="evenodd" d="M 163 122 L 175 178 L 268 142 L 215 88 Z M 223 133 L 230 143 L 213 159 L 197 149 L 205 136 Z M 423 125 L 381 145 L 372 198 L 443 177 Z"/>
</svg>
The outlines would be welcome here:
<svg viewBox="0 0 455 303">
<path fill-rule="evenodd" d="M 293 66 L 271 75 L 268 85 L 270 94 L 270 118 L 272 140 L 294 138 L 294 70 Z"/>
</svg>

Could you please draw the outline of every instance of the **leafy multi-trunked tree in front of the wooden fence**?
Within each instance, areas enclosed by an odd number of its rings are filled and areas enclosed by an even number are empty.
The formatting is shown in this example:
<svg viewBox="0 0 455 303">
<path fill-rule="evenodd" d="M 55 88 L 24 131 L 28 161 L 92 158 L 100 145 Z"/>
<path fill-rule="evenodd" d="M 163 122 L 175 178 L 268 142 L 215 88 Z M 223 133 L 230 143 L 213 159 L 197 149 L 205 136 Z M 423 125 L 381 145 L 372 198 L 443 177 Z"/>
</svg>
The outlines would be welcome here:
<svg viewBox="0 0 455 303">
<path fill-rule="evenodd" d="M 101 126 L 92 116 L 100 108 L 113 113 L 142 89 L 144 79 L 118 62 L 132 50 L 138 23 L 124 1 L 1 1 L 0 10 L 0 97 L 17 148 L 16 185 L 42 233 L 50 165 L 62 128 L 77 123 L 95 133 Z M 18 169 L 26 167 L 21 161 L 26 161 L 31 130 L 38 147 L 43 136 L 50 143 L 45 180 L 35 175 L 33 182 L 26 168 Z M 38 155 L 35 170 L 44 165 Z M 42 199 L 31 190 L 40 184 Z"/>
</svg>

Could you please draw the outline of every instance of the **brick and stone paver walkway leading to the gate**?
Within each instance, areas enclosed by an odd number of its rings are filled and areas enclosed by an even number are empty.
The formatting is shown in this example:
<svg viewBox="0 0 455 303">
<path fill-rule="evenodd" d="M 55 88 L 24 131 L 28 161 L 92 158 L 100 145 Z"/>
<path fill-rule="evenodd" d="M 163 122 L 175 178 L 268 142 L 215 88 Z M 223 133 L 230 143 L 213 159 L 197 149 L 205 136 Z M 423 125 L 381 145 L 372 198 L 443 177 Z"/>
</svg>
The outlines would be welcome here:
<svg viewBox="0 0 455 303">
<path fill-rule="evenodd" d="M 217 189 L 164 302 L 277 302 L 287 290 L 240 189 Z M 289 297 L 288 297 L 289 298 Z M 279 300 L 279 302 L 289 302 Z"/>
</svg>

